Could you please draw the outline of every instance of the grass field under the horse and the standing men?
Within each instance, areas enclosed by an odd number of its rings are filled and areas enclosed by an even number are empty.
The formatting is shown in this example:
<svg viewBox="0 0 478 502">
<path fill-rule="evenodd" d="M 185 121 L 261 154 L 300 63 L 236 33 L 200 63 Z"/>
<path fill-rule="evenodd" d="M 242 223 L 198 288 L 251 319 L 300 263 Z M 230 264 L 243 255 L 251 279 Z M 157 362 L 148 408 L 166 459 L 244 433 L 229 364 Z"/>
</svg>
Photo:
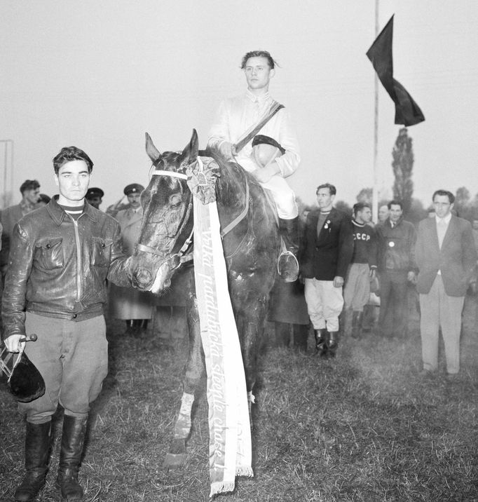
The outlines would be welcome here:
<svg viewBox="0 0 478 502">
<path fill-rule="evenodd" d="M 368 335 L 343 340 L 335 360 L 266 346 L 255 395 L 254 478 L 217 501 L 478 501 L 478 333 L 467 299 L 462 369 L 421 378 L 421 344 Z M 194 409 L 186 467 L 166 471 L 179 409 L 185 347 L 166 351 L 149 332 L 109 323 L 110 371 L 90 420 L 80 472 L 87 502 L 207 501 L 207 403 Z M 310 340 L 310 344 L 311 344 Z M 24 423 L 0 385 L 0 498 L 22 476 Z M 56 429 L 61 425 L 59 414 Z M 54 487 L 59 444 L 39 501 Z"/>
</svg>

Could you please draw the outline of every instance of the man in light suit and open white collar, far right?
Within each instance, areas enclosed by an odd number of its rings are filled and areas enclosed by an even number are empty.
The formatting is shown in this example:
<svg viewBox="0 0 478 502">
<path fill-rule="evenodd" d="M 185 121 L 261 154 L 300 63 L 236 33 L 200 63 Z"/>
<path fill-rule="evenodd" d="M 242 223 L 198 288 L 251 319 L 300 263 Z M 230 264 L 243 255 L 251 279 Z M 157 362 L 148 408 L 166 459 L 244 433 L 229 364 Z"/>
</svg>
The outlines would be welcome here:
<svg viewBox="0 0 478 502">
<path fill-rule="evenodd" d="M 460 370 L 461 312 L 477 262 L 470 222 L 451 214 L 455 197 L 437 190 L 432 197 L 436 216 L 418 226 L 416 263 L 420 294 L 423 374 L 438 367 L 438 328 L 451 378 Z"/>
</svg>

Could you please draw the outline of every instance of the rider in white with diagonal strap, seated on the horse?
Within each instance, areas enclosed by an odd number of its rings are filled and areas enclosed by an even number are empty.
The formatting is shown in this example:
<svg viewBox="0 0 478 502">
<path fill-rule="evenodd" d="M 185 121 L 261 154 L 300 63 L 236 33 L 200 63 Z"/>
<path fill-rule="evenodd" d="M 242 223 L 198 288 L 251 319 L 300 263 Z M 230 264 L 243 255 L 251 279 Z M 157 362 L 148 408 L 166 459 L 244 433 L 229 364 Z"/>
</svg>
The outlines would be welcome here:
<svg viewBox="0 0 478 502">
<path fill-rule="evenodd" d="M 298 210 L 294 191 L 285 178 L 299 167 L 299 144 L 290 126 L 285 108 L 279 109 L 258 131 L 278 142 L 284 153 L 272 161 L 257 163 L 254 158 L 252 137 L 241 149 L 236 145 L 271 114 L 278 103 L 268 93 L 269 83 L 275 74 L 275 61 L 265 50 L 255 50 L 243 57 L 241 68 L 247 81 L 243 95 L 224 100 L 210 130 L 209 147 L 219 149 L 226 158 L 233 158 L 245 170 L 251 172 L 261 185 L 271 191 L 280 218 L 280 231 L 287 251 L 296 255 L 298 247 Z M 295 258 L 281 255 L 279 270 L 287 281 L 296 279 L 298 266 Z"/>
</svg>

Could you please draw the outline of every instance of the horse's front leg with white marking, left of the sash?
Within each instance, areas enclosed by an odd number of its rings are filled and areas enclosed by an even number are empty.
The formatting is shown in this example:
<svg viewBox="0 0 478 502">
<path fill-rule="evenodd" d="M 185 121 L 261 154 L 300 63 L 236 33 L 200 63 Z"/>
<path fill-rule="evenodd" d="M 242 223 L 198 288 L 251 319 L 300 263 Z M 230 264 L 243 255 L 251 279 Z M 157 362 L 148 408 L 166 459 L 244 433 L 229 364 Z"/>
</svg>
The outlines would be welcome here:
<svg viewBox="0 0 478 502">
<path fill-rule="evenodd" d="M 189 293 L 189 298 L 186 301 L 186 312 L 189 329 L 189 355 L 186 363 L 181 409 L 179 409 L 175 422 L 170 452 L 168 452 L 164 461 L 166 468 L 184 466 L 184 463 L 186 463 L 186 440 L 191 433 L 191 410 L 194 393 L 205 370 L 203 345 L 200 339 L 198 305 L 196 295 L 193 293 Z"/>
</svg>

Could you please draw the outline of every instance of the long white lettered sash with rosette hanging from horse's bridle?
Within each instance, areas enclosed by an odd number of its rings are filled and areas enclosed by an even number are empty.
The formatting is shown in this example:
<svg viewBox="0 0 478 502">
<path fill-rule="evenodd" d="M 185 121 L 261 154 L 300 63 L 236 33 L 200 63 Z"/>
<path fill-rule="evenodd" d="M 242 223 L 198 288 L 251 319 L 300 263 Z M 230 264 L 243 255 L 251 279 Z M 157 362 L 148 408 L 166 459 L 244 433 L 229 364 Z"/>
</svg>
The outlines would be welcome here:
<svg viewBox="0 0 478 502">
<path fill-rule="evenodd" d="M 206 179 L 203 168 L 198 158 L 192 173 L 196 187 L 202 185 L 198 180 Z M 213 496 L 233 491 L 236 475 L 254 473 L 244 365 L 228 292 L 217 205 L 215 201 L 203 203 L 193 194 L 194 276 L 207 372 Z"/>
</svg>

